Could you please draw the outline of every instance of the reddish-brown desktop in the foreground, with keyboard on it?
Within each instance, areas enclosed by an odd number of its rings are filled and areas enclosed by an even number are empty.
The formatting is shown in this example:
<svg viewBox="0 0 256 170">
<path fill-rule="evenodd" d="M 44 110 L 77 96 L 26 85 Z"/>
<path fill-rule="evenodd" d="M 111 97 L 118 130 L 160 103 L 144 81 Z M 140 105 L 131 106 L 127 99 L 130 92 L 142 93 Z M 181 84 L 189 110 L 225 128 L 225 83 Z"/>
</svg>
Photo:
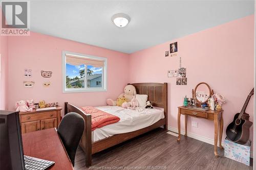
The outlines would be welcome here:
<svg viewBox="0 0 256 170">
<path fill-rule="evenodd" d="M 74 169 L 55 128 L 22 134 L 24 155 L 54 161 L 49 169 Z"/>
</svg>

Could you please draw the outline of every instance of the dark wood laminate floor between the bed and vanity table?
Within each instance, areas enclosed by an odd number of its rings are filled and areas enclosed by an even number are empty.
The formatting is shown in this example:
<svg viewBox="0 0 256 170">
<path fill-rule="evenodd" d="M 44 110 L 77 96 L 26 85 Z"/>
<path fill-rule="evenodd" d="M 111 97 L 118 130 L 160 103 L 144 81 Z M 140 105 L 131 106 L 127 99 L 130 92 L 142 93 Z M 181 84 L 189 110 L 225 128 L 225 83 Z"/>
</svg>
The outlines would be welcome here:
<svg viewBox="0 0 256 170">
<path fill-rule="evenodd" d="M 93 155 L 91 169 L 252 169 L 252 165 L 225 158 L 224 150 L 219 149 L 220 156 L 215 157 L 211 144 L 183 135 L 179 143 L 176 139 L 161 128 L 156 129 Z M 80 148 L 75 169 L 88 169 Z"/>
</svg>

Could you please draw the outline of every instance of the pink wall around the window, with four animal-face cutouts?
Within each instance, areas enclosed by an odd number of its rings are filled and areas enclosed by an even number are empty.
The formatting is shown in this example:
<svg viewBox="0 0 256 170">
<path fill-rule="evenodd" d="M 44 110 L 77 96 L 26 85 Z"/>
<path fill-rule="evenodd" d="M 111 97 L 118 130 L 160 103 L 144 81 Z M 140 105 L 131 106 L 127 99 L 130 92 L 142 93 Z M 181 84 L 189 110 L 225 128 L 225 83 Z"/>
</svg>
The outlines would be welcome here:
<svg viewBox="0 0 256 170">
<path fill-rule="evenodd" d="M 62 93 L 62 51 L 108 58 L 108 91 Z M 129 55 L 105 48 L 31 33 L 30 36 L 9 37 L 9 109 L 18 100 L 34 99 L 46 102 L 64 102 L 77 106 L 106 105 L 106 99 L 115 99 L 128 83 Z M 24 69 L 32 69 L 32 78 L 24 78 Z M 41 77 L 41 70 L 51 70 L 52 77 Z M 33 88 L 24 88 L 23 81 L 35 81 Z M 51 81 L 50 87 L 42 86 Z"/>
</svg>

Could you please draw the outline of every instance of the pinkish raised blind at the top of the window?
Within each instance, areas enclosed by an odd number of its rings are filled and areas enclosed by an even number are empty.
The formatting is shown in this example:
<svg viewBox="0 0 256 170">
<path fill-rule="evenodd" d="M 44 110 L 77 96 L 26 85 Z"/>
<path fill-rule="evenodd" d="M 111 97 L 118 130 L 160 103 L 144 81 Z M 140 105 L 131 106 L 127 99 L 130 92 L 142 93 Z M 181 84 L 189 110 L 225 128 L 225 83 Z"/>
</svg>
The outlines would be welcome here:
<svg viewBox="0 0 256 170">
<path fill-rule="evenodd" d="M 96 60 L 91 58 L 83 58 L 72 55 L 66 55 L 66 63 L 71 65 L 91 65 L 94 67 L 104 67 L 104 60 Z"/>
</svg>

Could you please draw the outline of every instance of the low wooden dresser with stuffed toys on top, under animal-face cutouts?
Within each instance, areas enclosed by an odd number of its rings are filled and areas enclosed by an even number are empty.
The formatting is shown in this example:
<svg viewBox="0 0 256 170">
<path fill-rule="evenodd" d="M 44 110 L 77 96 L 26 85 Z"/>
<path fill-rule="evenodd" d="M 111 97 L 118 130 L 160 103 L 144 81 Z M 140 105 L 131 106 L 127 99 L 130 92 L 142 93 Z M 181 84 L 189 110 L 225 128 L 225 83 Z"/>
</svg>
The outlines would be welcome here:
<svg viewBox="0 0 256 170">
<path fill-rule="evenodd" d="M 61 107 L 54 110 L 42 110 L 32 112 L 19 112 L 20 126 L 23 133 L 44 129 L 57 128 L 60 123 Z"/>
</svg>

